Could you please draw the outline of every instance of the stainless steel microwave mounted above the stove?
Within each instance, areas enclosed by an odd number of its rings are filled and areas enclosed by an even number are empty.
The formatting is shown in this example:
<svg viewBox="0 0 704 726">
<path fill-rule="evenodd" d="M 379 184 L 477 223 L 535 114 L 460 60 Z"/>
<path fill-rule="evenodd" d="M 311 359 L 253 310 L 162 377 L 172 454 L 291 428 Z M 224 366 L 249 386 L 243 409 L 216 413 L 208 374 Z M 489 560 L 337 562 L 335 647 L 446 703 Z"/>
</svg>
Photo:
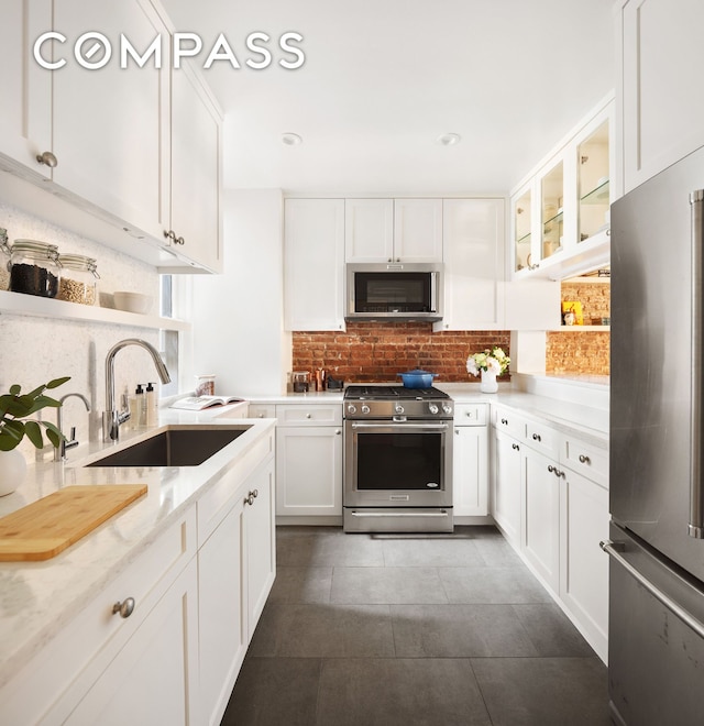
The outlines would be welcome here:
<svg viewBox="0 0 704 726">
<path fill-rule="evenodd" d="M 442 265 L 346 266 L 346 320 L 441 320 Z"/>
</svg>

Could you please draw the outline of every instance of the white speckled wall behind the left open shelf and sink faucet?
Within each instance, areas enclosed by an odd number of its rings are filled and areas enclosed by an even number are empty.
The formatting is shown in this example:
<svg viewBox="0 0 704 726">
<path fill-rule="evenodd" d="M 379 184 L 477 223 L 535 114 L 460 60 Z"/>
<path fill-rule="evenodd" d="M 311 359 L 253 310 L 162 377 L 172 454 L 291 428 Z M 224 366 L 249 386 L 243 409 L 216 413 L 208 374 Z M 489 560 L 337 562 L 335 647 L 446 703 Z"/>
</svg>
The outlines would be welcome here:
<svg viewBox="0 0 704 726">
<path fill-rule="evenodd" d="M 3 204 L 0 199 L 0 227 L 8 230 L 10 244 L 28 238 L 58 245 L 59 253 L 76 253 L 97 260 L 98 296 L 110 301 L 117 289 L 140 290 L 154 295 L 154 312 L 158 310 L 158 274 L 144 263 L 91 240 L 50 224 L 38 217 Z M 19 293 L 18 293 L 19 295 Z M 77 398 L 66 402 L 64 424 L 75 426 L 79 441 L 99 440 L 100 416 L 105 402 L 105 359 L 108 350 L 124 338 L 142 338 L 158 348 L 158 332 L 105 323 L 77 322 L 56 318 L 0 315 L 0 392 L 20 384 L 31 391 L 52 378 L 70 376 L 70 381 L 53 392 L 58 398 L 67 393 L 81 393 L 91 404 L 90 416 Z M 116 391 L 134 389 L 136 383 L 158 381 L 146 351 L 131 346 L 116 359 Z M 55 421 L 55 411 L 44 413 Z M 31 461 L 36 452 L 29 441 L 20 450 Z M 47 450 L 47 454 L 52 451 Z"/>
</svg>

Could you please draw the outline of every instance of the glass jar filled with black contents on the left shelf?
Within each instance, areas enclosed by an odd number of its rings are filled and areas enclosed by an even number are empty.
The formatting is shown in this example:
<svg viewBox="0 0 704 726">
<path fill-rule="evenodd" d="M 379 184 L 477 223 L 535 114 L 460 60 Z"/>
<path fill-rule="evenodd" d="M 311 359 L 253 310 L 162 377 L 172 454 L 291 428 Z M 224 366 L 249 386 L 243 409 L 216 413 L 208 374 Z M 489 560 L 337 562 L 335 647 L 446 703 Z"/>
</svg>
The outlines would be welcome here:
<svg viewBox="0 0 704 726">
<path fill-rule="evenodd" d="M 35 240 L 15 240 L 10 249 L 10 290 L 56 297 L 59 278 L 58 248 Z"/>
</svg>

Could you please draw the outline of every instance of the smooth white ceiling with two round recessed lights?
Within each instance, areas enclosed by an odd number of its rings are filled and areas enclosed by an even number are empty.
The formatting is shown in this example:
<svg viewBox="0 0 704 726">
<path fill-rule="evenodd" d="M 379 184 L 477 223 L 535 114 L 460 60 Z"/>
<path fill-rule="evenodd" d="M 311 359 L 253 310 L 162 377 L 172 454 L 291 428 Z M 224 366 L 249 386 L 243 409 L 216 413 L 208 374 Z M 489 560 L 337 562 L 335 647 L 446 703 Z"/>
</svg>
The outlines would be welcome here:
<svg viewBox="0 0 704 726">
<path fill-rule="evenodd" d="M 226 111 L 226 188 L 506 193 L 614 87 L 614 0 L 162 0 L 224 33 L 241 69 L 205 72 Z M 249 33 L 272 37 L 263 70 Z M 304 36 L 285 70 L 282 33 Z M 298 146 L 280 136 L 295 132 Z M 462 141 L 441 146 L 439 135 Z"/>
</svg>

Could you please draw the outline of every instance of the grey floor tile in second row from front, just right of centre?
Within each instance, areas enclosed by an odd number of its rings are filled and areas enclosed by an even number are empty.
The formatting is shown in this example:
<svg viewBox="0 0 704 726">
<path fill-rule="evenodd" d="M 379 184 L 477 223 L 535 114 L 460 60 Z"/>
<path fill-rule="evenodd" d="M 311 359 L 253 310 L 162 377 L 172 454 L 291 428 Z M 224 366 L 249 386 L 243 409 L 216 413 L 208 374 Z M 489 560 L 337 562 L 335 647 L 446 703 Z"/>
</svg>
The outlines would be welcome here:
<svg viewBox="0 0 704 726">
<path fill-rule="evenodd" d="M 512 605 L 392 605 L 399 658 L 538 656 Z"/>
</svg>

